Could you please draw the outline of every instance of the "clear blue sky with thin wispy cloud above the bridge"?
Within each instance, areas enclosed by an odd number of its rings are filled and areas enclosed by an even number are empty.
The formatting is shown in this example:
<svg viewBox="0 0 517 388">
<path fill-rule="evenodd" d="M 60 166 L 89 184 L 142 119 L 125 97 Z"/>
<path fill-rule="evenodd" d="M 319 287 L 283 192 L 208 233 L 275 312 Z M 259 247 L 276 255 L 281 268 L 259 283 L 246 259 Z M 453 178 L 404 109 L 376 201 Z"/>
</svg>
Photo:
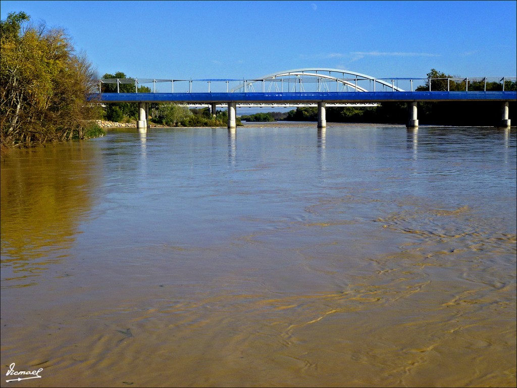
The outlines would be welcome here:
<svg viewBox="0 0 517 388">
<path fill-rule="evenodd" d="M 102 76 L 255 78 L 328 67 L 377 78 L 515 76 L 515 1 L 2 1 L 65 28 Z"/>
</svg>

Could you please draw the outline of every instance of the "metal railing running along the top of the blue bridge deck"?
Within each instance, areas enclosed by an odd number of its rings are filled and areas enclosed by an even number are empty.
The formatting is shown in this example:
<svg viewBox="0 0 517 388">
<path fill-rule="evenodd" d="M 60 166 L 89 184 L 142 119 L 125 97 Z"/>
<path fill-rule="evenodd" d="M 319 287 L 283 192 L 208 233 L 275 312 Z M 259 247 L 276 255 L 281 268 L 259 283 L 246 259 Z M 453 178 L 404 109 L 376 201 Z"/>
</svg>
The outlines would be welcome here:
<svg viewBox="0 0 517 388">
<path fill-rule="evenodd" d="M 382 82 L 378 82 L 382 81 Z M 99 93 L 255 93 L 255 92 L 492 92 L 515 90 L 517 77 L 466 78 L 338 78 L 279 77 L 274 79 L 151 79 L 98 80 Z M 126 86 L 127 85 L 127 86 Z M 158 86 L 158 90 L 157 90 Z M 139 92 L 140 88 L 140 92 Z"/>
</svg>

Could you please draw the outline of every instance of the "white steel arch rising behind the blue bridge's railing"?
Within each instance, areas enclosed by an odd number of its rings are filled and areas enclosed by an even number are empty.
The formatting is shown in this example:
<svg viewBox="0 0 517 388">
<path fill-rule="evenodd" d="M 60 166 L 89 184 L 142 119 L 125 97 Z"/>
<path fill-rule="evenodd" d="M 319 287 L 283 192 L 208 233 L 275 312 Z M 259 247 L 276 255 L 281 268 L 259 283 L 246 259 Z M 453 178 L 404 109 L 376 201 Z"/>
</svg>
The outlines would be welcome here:
<svg viewBox="0 0 517 388">
<path fill-rule="evenodd" d="M 328 75 L 325 74 L 327 72 Z M 337 75 L 332 75 L 332 73 Z M 234 87 L 231 92 L 235 92 L 243 88 L 246 92 L 249 91 L 249 88 L 252 88 L 254 91 L 253 84 L 256 82 L 262 82 L 262 91 L 264 92 L 266 81 L 276 83 L 292 83 L 295 89 L 296 85 L 299 84 L 300 91 L 303 91 L 304 84 L 318 82 L 318 92 L 320 91 L 319 83 L 326 81 L 334 81 L 338 85 L 341 84 L 342 87 L 353 87 L 354 91 L 357 92 L 368 92 L 368 89 L 359 86 L 358 82 L 369 81 L 370 83 L 373 82 L 373 91 L 375 91 L 375 84 L 377 83 L 382 85 L 384 88 L 390 88 L 392 91 L 404 92 L 403 89 L 395 86 L 394 83 L 390 84 L 382 79 L 368 76 L 367 74 L 358 73 L 356 71 L 333 68 L 302 68 L 279 71 L 276 73 L 267 74 L 267 76 L 264 77 L 246 80 L 237 87 Z M 275 84 L 275 87 L 277 87 L 277 84 Z"/>
</svg>

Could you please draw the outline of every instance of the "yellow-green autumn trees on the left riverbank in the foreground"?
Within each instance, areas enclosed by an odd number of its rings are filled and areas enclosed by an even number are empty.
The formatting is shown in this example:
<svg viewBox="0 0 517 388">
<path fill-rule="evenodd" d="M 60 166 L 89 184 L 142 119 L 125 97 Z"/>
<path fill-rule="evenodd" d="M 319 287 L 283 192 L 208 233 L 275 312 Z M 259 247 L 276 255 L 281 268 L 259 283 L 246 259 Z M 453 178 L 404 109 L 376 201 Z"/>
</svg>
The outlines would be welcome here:
<svg viewBox="0 0 517 388">
<path fill-rule="evenodd" d="M 99 106 L 95 70 L 75 52 L 63 29 L 31 23 L 25 12 L 0 23 L 0 135 L 2 147 L 92 137 Z"/>
</svg>

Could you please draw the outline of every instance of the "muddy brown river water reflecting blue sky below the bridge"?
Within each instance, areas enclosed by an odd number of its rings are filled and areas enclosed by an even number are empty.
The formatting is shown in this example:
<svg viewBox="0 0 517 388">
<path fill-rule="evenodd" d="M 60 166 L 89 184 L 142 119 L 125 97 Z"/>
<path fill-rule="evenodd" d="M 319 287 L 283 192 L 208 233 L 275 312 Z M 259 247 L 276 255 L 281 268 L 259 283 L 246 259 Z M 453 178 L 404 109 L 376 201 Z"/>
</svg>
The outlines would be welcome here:
<svg viewBox="0 0 517 388">
<path fill-rule="evenodd" d="M 516 164 L 395 125 L 9 151 L 2 386 L 515 386 Z"/>
</svg>

